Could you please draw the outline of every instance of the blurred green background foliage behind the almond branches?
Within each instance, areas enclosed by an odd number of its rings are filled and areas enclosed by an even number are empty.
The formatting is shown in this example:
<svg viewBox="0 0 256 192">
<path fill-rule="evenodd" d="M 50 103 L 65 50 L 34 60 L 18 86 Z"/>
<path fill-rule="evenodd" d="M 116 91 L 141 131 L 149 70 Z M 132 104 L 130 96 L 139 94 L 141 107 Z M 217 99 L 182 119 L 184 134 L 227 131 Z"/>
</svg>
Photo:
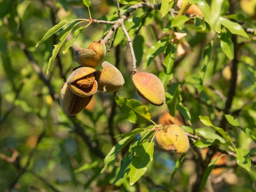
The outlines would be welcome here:
<svg viewBox="0 0 256 192">
<path fill-rule="evenodd" d="M 121 6 L 122 14 L 131 5 L 125 0 L 120 2 L 124 3 Z M 134 2 L 137 3 L 137 0 Z M 224 2 L 228 4 L 227 1 Z M 241 0 L 236 6 L 236 13 L 243 14 L 249 20 L 244 26 L 255 28 L 255 1 Z M 93 19 L 118 18 L 116 3 L 113 0 L 92 0 L 90 12 Z M 143 63 L 152 45 L 159 39 L 169 38 L 162 34 L 162 30 L 171 16 L 161 17 L 157 10 L 149 12 L 146 16 L 144 26 L 138 34 L 136 32 L 145 17 L 145 10 L 138 9 L 134 12 L 125 22 L 125 26 L 134 41 L 138 69 L 158 75 L 159 62 L 162 62 L 163 55 L 158 55 L 146 70 L 143 70 Z M 168 191 L 171 173 L 179 155 L 168 154 L 156 147 L 154 161 L 136 185 L 130 186 L 128 180 L 123 179 L 111 187 L 117 174 L 115 167 L 119 166 L 120 161 L 112 163 L 107 173 L 100 174 L 104 160 L 98 157 L 92 148 L 88 148 L 87 143 L 76 131 L 76 125 L 79 124 L 83 128 L 92 146 L 98 146 L 104 155 L 108 154 L 113 147 L 108 122 L 114 101 L 113 93 L 96 93 L 86 110 L 76 115 L 73 121 L 77 124 L 74 124 L 61 111 L 58 102 L 53 101 L 47 85 L 32 67 L 33 61 L 28 58 L 26 52 L 32 55 L 45 74 L 53 45 L 56 44 L 56 37 L 60 32 L 52 35 L 38 48 L 35 48 L 35 44 L 61 20 L 80 17 L 89 18 L 87 7 L 82 0 L 0 0 L 0 192 Z M 74 44 L 86 48 L 92 41 L 102 39 L 110 27 L 109 24 L 92 23 Z M 158 34 L 155 34 L 155 30 Z M 215 38 L 205 73 L 204 83 L 207 86 L 199 87 L 201 68 L 204 66 L 202 55 L 214 34 L 196 29 L 193 22 L 186 23 L 186 27 L 179 32 L 187 34 L 184 40 L 189 43 L 191 49 L 181 55 L 176 52 L 173 79 L 167 87 L 167 92 L 173 95 L 178 84 L 185 85 L 187 91 L 183 90 L 181 95 L 191 114 L 192 127 L 206 128 L 198 116 L 210 116 L 213 124 L 219 121 L 218 114 L 221 112 L 217 109 L 225 108 L 229 90 L 229 83 L 224 80 L 221 71 L 224 66 L 230 64 L 230 59 L 221 50 L 219 39 Z M 72 38 L 73 35 L 70 34 L 68 39 Z M 238 36 L 238 43 L 244 41 L 246 38 Z M 104 61 L 115 65 L 116 58 L 119 57 L 119 70 L 125 79 L 125 85 L 119 90 L 119 95 L 127 99 L 137 99 L 147 105 L 152 119 L 157 122 L 158 118 L 168 111 L 168 107 L 166 104 L 161 107 L 150 105 L 137 95 L 131 81 L 132 61 L 126 42 L 122 30 L 118 29 L 113 48 L 107 52 Z M 236 87 L 231 113 L 239 119 L 241 127 L 250 128 L 255 135 L 256 91 L 247 91 L 256 80 L 256 44 L 252 41 L 241 46 L 238 65 L 241 84 Z M 107 49 L 108 47 L 110 46 L 107 45 Z M 63 77 L 67 78 L 71 73 L 70 69 L 78 66 L 72 47 L 65 54 L 62 53 L 63 50 L 64 46 L 61 47 L 47 76 L 47 80 L 58 94 Z M 100 69 L 100 66 L 97 67 L 97 70 Z M 199 93 L 200 88 L 202 91 Z M 181 125 L 186 123 L 184 118 L 180 119 Z M 114 135 L 146 126 L 131 124 L 118 109 L 112 120 Z M 208 129 L 212 130 L 209 127 Z M 239 128 L 229 126 L 228 132 L 233 136 L 237 148 L 250 150 L 255 147 L 252 139 Z M 7 156 L 11 158 L 8 159 Z M 122 159 L 121 156 L 120 154 L 119 160 Z M 193 158 L 195 157 L 190 149 L 172 181 L 173 191 L 191 189 L 197 172 L 196 160 Z M 79 169 L 81 167 L 82 169 Z M 214 184 L 215 191 L 256 191 L 254 167 L 247 172 L 235 166 L 233 171 L 236 174 L 235 182 L 233 180 L 229 183 L 222 179 Z M 219 174 L 212 174 L 212 177 L 218 177 Z"/>
</svg>

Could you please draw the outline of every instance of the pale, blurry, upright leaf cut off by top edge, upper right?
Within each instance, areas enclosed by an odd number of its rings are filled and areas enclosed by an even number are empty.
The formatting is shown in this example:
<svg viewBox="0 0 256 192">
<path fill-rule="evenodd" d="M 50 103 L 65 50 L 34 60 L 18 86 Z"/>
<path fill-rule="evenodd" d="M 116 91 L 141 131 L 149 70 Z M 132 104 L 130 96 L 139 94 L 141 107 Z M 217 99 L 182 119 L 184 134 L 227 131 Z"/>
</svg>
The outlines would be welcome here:
<svg viewBox="0 0 256 192">
<path fill-rule="evenodd" d="M 217 24 L 217 21 L 221 15 L 221 7 L 224 0 L 212 0 L 211 2 L 211 27 L 213 30 L 215 30 L 215 26 Z"/>
</svg>

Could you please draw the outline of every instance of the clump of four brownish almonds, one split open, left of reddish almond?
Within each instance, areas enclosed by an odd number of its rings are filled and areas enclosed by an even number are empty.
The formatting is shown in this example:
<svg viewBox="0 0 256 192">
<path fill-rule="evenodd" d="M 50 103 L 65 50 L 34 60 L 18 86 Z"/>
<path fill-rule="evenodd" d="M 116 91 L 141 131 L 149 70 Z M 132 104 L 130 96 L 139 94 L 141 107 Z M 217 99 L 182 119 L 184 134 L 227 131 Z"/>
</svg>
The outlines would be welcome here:
<svg viewBox="0 0 256 192">
<path fill-rule="evenodd" d="M 125 80 L 122 73 L 107 61 L 102 63 L 102 70 L 94 68 L 99 65 L 106 53 L 102 40 L 94 41 L 87 49 L 74 48 L 76 61 L 84 67 L 79 67 L 61 87 L 60 104 L 66 115 L 76 115 L 90 102 L 97 90 L 107 93 L 119 90 Z"/>
</svg>

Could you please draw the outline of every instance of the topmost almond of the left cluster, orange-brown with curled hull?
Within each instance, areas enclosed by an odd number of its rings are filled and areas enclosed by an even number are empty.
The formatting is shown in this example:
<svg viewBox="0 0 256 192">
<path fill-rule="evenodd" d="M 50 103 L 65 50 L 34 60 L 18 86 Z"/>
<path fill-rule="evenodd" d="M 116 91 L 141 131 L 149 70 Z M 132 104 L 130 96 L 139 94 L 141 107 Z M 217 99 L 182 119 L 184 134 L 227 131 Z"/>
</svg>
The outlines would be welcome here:
<svg viewBox="0 0 256 192">
<path fill-rule="evenodd" d="M 102 40 L 93 41 L 87 49 L 74 47 L 76 62 L 84 67 L 95 68 L 106 54 L 106 46 Z"/>
</svg>

